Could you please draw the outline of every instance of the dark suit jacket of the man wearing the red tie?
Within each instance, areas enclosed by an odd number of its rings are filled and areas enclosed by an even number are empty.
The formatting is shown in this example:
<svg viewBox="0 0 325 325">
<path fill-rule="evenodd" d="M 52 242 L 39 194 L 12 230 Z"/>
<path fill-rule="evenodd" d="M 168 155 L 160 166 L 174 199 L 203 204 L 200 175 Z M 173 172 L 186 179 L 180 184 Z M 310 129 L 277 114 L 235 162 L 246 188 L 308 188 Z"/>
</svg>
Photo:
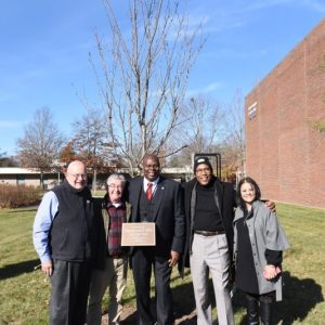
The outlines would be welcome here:
<svg viewBox="0 0 325 325">
<path fill-rule="evenodd" d="M 129 203 L 131 204 L 131 222 L 140 222 L 139 203 L 143 191 L 143 177 L 134 178 L 129 183 Z M 180 184 L 173 180 L 159 177 L 155 191 L 155 209 L 153 222 L 156 224 L 155 257 L 169 259 L 170 250 L 183 251 L 185 224 Z M 131 253 L 134 247 L 131 248 Z"/>
</svg>

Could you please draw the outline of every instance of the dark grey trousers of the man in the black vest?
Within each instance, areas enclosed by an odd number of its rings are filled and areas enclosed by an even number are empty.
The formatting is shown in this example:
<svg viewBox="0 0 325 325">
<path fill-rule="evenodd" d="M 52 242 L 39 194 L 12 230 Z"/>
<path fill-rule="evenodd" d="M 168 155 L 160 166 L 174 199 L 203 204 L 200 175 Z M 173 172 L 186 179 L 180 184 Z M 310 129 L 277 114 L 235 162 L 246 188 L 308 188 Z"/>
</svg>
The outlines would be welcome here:
<svg viewBox="0 0 325 325">
<path fill-rule="evenodd" d="M 50 324 L 83 325 L 90 284 L 90 263 L 54 260 L 53 264 Z"/>
</svg>

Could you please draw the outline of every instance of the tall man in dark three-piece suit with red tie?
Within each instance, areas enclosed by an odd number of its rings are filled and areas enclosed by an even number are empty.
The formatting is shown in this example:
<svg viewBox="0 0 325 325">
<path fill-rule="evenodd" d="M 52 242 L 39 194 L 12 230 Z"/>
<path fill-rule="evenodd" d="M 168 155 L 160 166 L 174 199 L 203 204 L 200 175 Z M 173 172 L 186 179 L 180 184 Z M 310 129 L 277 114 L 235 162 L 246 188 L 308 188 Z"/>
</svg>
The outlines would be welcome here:
<svg viewBox="0 0 325 325">
<path fill-rule="evenodd" d="M 156 155 L 143 159 L 144 177 L 130 181 L 129 202 L 131 222 L 155 222 L 156 246 L 132 247 L 131 264 L 136 294 L 139 324 L 155 324 L 151 313 L 152 268 L 156 282 L 157 323 L 172 324 L 173 309 L 170 275 L 183 251 L 184 216 L 180 185 L 159 176 L 160 164 Z"/>
</svg>

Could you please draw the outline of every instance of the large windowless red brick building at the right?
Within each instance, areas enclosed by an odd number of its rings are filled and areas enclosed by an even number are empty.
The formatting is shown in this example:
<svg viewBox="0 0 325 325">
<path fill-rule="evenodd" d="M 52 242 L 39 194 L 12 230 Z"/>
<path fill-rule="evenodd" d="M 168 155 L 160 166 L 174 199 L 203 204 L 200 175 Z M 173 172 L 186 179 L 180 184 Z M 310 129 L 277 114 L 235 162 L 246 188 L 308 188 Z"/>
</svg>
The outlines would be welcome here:
<svg viewBox="0 0 325 325">
<path fill-rule="evenodd" d="M 247 96 L 246 173 L 262 196 L 325 208 L 325 20 Z"/>
</svg>

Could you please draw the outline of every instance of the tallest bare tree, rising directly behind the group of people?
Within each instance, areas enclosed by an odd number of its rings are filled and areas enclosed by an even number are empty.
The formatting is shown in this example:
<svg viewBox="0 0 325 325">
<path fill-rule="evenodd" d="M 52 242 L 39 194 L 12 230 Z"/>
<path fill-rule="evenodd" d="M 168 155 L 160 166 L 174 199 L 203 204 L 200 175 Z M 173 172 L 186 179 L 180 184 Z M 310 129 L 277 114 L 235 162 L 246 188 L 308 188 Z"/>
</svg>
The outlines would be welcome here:
<svg viewBox="0 0 325 325">
<path fill-rule="evenodd" d="M 133 169 L 146 153 L 159 154 L 179 122 L 191 68 L 203 41 L 190 30 L 177 0 L 130 1 L 130 34 L 122 31 L 110 0 L 104 0 L 110 43 L 95 35 L 92 55 L 108 131 L 116 153 Z M 180 148 L 178 148 L 180 150 Z"/>
</svg>

